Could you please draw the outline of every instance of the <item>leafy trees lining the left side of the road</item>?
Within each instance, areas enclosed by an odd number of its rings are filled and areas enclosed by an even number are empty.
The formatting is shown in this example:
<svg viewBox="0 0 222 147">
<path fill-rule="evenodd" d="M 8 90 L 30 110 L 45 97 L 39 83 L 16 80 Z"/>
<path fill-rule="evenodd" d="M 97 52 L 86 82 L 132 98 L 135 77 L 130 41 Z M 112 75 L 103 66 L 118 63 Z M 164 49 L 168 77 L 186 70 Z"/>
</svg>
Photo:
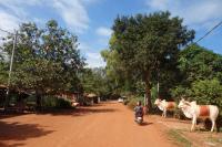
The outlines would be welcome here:
<svg viewBox="0 0 222 147">
<path fill-rule="evenodd" d="M 58 22 L 50 20 L 44 28 L 36 23 L 22 23 L 17 32 L 13 66 L 8 75 L 12 54 L 13 34 L 4 38 L 0 56 L 0 106 L 27 107 L 28 109 L 70 108 L 69 95 L 85 102 L 84 93 L 100 97 L 107 92 L 103 69 L 87 69 L 80 54 L 78 36 Z M 62 98 L 62 95 L 64 98 Z M 87 103 L 84 103 L 87 104 Z"/>
</svg>

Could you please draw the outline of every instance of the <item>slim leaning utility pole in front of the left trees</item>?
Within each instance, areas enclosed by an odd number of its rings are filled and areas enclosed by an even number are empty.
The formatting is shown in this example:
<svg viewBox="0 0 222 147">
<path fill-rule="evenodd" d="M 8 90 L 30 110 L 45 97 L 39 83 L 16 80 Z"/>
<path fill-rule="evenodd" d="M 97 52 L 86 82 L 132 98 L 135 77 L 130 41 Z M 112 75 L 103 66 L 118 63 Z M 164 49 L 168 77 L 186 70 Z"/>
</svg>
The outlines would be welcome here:
<svg viewBox="0 0 222 147">
<path fill-rule="evenodd" d="M 4 111 L 9 105 L 9 92 L 10 92 L 10 83 L 11 83 L 11 71 L 12 71 L 12 65 L 13 65 L 13 56 L 14 56 L 14 49 L 17 45 L 17 35 L 18 31 L 16 31 L 14 36 L 13 36 L 13 46 L 12 46 L 12 53 L 11 53 L 11 59 L 10 59 L 10 69 L 9 69 L 9 78 L 8 78 L 8 84 L 7 84 L 7 96 L 6 96 L 6 102 L 4 102 Z"/>
</svg>

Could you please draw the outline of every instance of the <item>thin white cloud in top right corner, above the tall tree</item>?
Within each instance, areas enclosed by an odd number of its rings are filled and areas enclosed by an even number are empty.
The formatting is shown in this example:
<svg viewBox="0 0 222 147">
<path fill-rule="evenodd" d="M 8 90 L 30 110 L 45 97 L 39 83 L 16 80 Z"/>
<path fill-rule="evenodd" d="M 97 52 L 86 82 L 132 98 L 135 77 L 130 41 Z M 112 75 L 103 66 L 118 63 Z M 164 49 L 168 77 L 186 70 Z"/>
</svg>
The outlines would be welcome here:
<svg viewBox="0 0 222 147">
<path fill-rule="evenodd" d="M 210 22 L 222 18 L 221 0 L 147 0 L 147 4 L 151 10 L 169 10 L 173 15 L 184 18 L 184 23 L 195 29 L 210 27 Z"/>
</svg>

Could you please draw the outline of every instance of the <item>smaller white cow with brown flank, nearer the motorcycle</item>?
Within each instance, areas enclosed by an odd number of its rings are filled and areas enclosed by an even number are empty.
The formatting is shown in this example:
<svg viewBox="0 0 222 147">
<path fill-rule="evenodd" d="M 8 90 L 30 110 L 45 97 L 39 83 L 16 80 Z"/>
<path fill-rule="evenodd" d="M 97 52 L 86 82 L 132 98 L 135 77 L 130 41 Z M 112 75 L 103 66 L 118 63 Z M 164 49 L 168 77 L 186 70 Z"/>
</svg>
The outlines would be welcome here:
<svg viewBox="0 0 222 147">
<path fill-rule="evenodd" d="M 159 107 L 160 111 L 162 111 L 162 116 L 167 117 L 168 111 L 174 111 L 176 107 L 175 102 L 167 102 L 165 99 L 161 101 L 160 98 L 157 98 L 154 104 Z"/>
</svg>

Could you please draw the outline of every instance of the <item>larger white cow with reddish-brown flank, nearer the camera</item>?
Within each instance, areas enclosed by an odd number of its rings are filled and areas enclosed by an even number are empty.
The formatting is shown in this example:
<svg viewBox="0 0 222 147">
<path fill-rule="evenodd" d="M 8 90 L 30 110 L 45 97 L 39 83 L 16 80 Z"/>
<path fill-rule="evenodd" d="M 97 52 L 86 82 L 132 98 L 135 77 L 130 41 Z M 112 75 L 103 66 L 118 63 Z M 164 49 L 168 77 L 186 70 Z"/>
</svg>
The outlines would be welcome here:
<svg viewBox="0 0 222 147">
<path fill-rule="evenodd" d="M 183 114 L 188 118 L 192 118 L 191 132 L 194 129 L 196 125 L 198 118 L 210 118 L 212 122 L 211 132 L 215 128 L 215 120 L 219 115 L 219 108 L 214 105 L 196 105 L 196 102 L 188 102 L 185 99 L 181 99 L 179 103 L 179 108 L 182 109 Z"/>
</svg>

